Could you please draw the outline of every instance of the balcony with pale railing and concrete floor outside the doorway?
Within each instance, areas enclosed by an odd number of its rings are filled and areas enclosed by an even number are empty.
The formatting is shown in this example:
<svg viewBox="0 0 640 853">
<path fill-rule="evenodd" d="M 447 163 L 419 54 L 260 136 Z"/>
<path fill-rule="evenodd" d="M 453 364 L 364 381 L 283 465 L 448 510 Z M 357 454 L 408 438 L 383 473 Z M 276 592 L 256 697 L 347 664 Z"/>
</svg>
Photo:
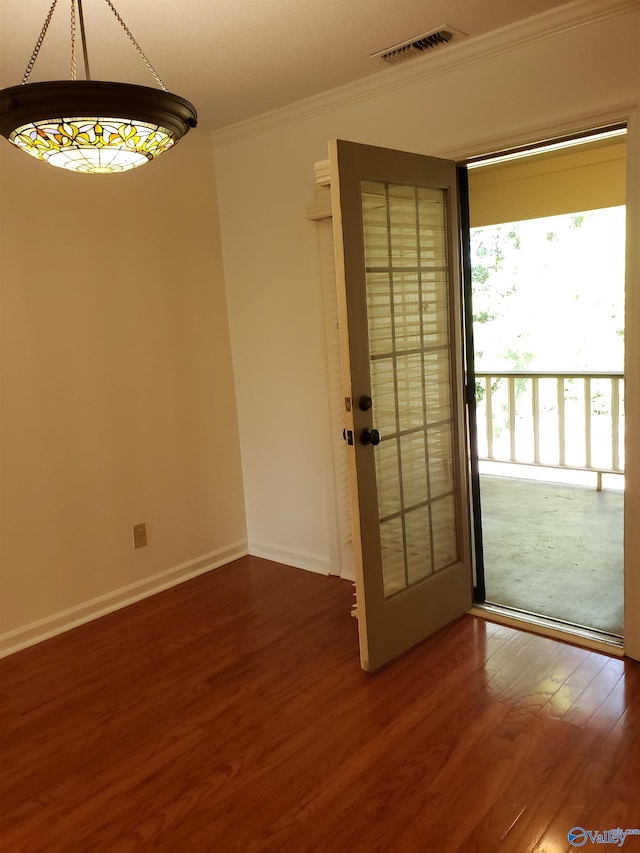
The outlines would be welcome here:
<svg viewBox="0 0 640 853">
<path fill-rule="evenodd" d="M 623 633 L 624 375 L 476 374 L 487 601 Z"/>
</svg>

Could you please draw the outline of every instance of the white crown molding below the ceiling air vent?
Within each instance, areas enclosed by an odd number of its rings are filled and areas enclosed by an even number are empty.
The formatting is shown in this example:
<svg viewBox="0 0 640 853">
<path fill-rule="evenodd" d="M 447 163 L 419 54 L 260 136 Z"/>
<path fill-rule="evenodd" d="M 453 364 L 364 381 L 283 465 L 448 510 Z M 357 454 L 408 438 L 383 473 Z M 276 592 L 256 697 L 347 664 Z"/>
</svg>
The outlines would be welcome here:
<svg viewBox="0 0 640 853">
<path fill-rule="evenodd" d="M 440 54 L 417 57 L 353 83 L 212 131 L 211 139 L 216 148 L 230 145 L 638 9 L 640 0 L 575 0 L 490 33 L 453 42 Z"/>
</svg>

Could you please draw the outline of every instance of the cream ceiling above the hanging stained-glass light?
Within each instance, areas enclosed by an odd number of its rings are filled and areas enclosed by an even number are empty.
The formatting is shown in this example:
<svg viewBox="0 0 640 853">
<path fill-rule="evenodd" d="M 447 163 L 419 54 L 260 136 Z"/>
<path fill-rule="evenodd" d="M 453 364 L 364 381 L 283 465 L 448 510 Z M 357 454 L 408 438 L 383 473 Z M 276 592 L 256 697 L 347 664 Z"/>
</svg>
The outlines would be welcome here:
<svg viewBox="0 0 640 853">
<path fill-rule="evenodd" d="M 0 88 L 22 81 L 52 0 L 0 0 Z M 114 0 L 167 87 L 218 129 L 392 66 L 370 54 L 443 24 L 479 36 L 564 0 Z M 155 81 L 105 0 L 83 0 L 91 74 Z M 58 0 L 31 81 L 70 76 Z M 439 47 L 436 50 L 447 50 Z M 428 62 L 429 55 L 416 62 Z M 78 51 L 78 76 L 81 50 Z"/>
</svg>

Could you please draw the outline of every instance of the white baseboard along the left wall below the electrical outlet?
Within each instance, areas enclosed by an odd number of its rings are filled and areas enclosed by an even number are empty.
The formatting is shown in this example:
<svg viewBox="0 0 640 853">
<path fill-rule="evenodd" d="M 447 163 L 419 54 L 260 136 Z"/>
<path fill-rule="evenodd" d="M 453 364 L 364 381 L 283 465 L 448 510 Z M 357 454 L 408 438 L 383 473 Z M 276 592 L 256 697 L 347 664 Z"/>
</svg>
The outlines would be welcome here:
<svg viewBox="0 0 640 853">
<path fill-rule="evenodd" d="M 143 598 L 149 598 L 157 592 L 177 586 L 198 575 L 218 569 L 220 566 L 233 562 L 233 560 L 246 557 L 248 553 L 246 541 L 233 542 L 225 548 L 219 548 L 217 551 L 204 554 L 195 560 L 181 563 L 179 566 L 166 569 L 164 572 L 159 572 L 152 577 L 144 578 L 144 580 L 121 587 L 113 592 L 108 592 L 106 595 L 101 595 L 90 601 L 85 601 L 68 610 L 54 613 L 45 619 L 40 619 L 37 622 L 31 622 L 29 625 L 24 625 L 13 631 L 0 634 L 0 658 L 11 655 L 28 646 L 34 646 L 36 643 L 41 643 L 43 640 L 48 640 L 50 637 L 62 634 L 71 628 L 83 625 L 85 622 L 91 622 L 93 619 L 98 619 L 100 616 L 105 616 L 114 610 L 120 610 L 122 607 L 126 607 Z"/>
</svg>

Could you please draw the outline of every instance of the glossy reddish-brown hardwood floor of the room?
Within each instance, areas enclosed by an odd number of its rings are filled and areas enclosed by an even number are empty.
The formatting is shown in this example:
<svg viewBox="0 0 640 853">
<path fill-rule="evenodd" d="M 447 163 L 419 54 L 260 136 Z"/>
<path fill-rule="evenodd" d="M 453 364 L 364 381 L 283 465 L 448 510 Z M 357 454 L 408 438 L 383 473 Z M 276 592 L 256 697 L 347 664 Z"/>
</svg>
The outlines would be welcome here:
<svg viewBox="0 0 640 853">
<path fill-rule="evenodd" d="M 559 853 L 640 828 L 639 664 L 467 616 L 368 676 L 351 600 L 245 558 L 0 661 L 0 850 Z"/>
</svg>

